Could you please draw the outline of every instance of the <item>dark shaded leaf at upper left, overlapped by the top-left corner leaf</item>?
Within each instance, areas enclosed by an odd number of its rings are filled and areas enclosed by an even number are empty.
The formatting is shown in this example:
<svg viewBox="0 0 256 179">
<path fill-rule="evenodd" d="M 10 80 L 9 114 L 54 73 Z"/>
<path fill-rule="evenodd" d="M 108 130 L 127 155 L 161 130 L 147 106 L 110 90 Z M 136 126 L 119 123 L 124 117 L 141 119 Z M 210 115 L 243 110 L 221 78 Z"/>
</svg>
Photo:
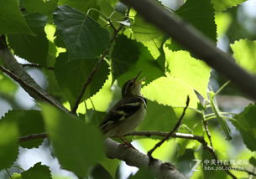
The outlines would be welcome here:
<svg viewBox="0 0 256 179">
<path fill-rule="evenodd" d="M 36 36 L 21 33 L 10 34 L 8 35 L 10 47 L 13 49 L 14 54 L 19 57 L 46 67 L 48 39 L 44 32 L 44 26 L 47 23 L 47 16 L 39 13 L 30 13 L 25 18 Z"/>
</svg>

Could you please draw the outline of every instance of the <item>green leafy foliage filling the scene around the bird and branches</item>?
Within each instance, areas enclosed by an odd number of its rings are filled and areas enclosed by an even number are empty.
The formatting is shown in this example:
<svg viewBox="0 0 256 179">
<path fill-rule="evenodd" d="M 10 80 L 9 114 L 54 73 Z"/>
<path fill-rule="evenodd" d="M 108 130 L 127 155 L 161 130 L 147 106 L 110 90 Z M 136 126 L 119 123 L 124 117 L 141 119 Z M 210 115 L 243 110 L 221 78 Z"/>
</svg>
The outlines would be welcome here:
<svg viewBox="0 0 256 179">
<path fill-rule="evenodd" d="M 228 11 L 223 11 L 243 1 L 187 0 L 175 11 L 159 4 L 217 43 L 231 23 Z M 0 120 L 0 170 L 8 171 L 18 160 L 18 147 L 31 149 L 47 143 L 43 138 L 23 141 L 24 137 L 47 133 L 52 155 L 61 168 L 80 178 L 114 178 L 120 162 L 104 158 L 104 139 L 97 125 L 109 106 L 120 99 L 120 87 L 140 71 L 139 78 L 146 77 L 142 94 L 148 99 L 148 113 L 139 130 L 172 130 L 189 95 L 190 110 L 177 132 L 202 136 L 215 155 L 227 160 L 234 159 L 230 151 L 236 146 L 232 147 L 231 140 L 242 136 L 241 145 L 247 147 L 243 151 L 251 163 L 246 167 L 256 166 L 256 105 L 248 105 L 237 115 L 222 111 L 217 96 L 228 82 L 214 92 L 211 67 L 147 23 L 133 8 L 115 0 L 0 0 L 0 12 L 0 35 L 6 37 L 13 55 L 27 60 L 24 69 L 40 69 L 48 84 L 46 91 L 78 114 L 66 114 L 54 104 L 41 102 L 42 98 L 35 99 L 36 110 L 24 110 L 15 101 L 18 84 L 0 71 L 0 100 L 13 107 Z M 236 63 L 255 74 L 256 42 L 239 38 L 230 48 Z M 5 58 L 0 52 L 1 66 L 11 63 Z M 34 83 L 33 79 L 29 83 Z M 26 90 L 27 86 L 21 86 Z M 135 139 L 147 150 L 156 143 L 147 136 Z M 193 159 L 215 159 L 203 143 L 188 139 L 170 142 L 171 147 L 160 149 L 168 155 L 159 150 L 155 156 L 175 161 L 184 174 L 191 172 Z M 12 177 L 55 178 L 50 173 L 50 167 L 39 162 Z M 248 176 L 238 171 L 234 174 Z M 191 176 L 201 177 L 230 176 L 225 171 L 194 172 Z M 142 169 L 128 178 L 154 175 Z"/>
</svg>

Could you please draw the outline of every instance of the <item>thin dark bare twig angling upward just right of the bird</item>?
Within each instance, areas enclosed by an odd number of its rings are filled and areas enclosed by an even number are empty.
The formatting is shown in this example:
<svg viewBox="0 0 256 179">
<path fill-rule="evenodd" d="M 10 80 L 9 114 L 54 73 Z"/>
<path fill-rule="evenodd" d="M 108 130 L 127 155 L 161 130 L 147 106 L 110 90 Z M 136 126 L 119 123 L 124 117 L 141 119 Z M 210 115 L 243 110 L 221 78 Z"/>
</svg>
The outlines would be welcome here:
<svg viewBox="0 0 256 179">
<path fill-rule="evenodd" d="M 180 127 L 181 124 L 181 120 L 183 119 L 184 115 L 185 115 L 185 110 L 187 109 L 188 105 L 190 103 L 190 97 L 187 96 L 186 102 L 185 102 L 185 108 L 183 109 L 182 114 L 180 115 L 180 119 L 178 120 L 178 122 L 176 123 L 175 127 L 173 130 L 171 130 L 167 136 L 164 137 L 164 139 L 162 139 L 161 141 L 159 141 L 150 151 L 148 151 L 148 156 L 150 159 L 153 159 L 152 157 L 152 153 L 159 147 L 161 146 L 165 141 L 167 141 L 170 136 L 172 136 L 175 131 Z"/>
</svg>

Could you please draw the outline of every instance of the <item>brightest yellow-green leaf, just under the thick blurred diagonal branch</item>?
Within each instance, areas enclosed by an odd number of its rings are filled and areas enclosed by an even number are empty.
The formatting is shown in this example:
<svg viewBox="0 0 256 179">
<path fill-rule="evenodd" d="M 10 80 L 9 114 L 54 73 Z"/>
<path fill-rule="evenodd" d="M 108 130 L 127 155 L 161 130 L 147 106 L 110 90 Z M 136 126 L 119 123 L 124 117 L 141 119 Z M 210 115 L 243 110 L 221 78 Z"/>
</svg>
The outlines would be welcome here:
<svg viewBox="0 0 256 179">
<path fill-rule="evenodd" d="M 205 62 L 194 59 L 186 51 L 172 52 L 165 49 L 165 58 L 169 65 L 170 75 L 200 93 L 207 99 L 207 88 L 211 69 Z"/>
</svg>

